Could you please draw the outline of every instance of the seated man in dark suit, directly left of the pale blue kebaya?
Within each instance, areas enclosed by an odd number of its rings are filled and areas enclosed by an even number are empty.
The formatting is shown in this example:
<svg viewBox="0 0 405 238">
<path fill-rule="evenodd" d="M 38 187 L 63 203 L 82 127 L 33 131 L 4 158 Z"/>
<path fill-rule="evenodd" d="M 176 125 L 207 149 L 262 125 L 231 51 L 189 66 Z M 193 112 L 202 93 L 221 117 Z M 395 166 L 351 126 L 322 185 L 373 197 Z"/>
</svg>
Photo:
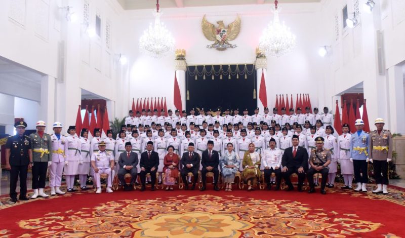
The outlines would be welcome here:
<svg viewBox="0 0 405 238">
<path fill-rule="evenodd" d="M 203 154 L 201 156 L 201 165 L 203 166 L 203 169 L 201 169 L 201 176 L 203 177 L 203 187 L 201 187 L 199 190 L 200 191 L 206 190 L 207 172 L 213 172 L 214 173 L 214 190 L 219 191 L 219 188 L 217 186 L 218 175 L 219 175 L 219 170 L 218 170 L 219 153 L 218 153 L 218 151 L 214 150 L 214 141 L 212 141 L 212 140 L 209 140 L 207 142 L 207 149 L 203 151 Z"/>
</svg>

